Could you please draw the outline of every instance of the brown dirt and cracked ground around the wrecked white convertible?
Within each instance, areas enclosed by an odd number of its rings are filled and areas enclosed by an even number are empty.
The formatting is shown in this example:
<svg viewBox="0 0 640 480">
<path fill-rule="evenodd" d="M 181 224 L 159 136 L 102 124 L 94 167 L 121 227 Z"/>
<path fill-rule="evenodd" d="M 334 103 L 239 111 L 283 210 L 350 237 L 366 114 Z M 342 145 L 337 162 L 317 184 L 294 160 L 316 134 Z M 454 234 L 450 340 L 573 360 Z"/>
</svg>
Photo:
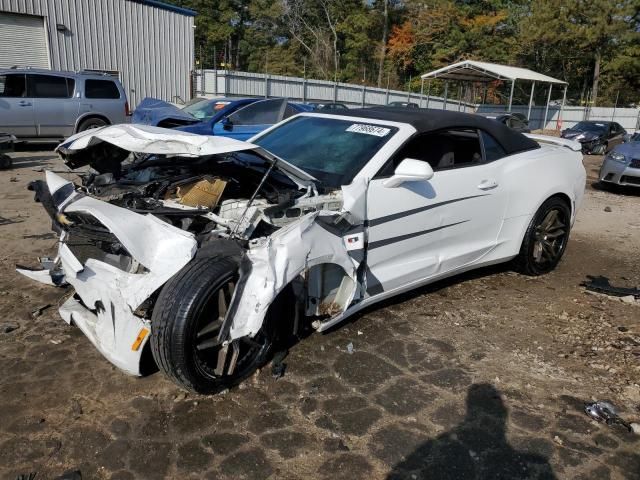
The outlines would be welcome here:
<svg viewBox="0 0 640 480">
<path fill-rule="evenodd" d="M 61 290 L 14 272 L 55 253 L 26 187 L 63 169 L 50 151 L 15 157 L 0 172 L 0 478 L 640 478 L 640 435 L 583 413 L 609 400 L 640 421 L 640 305 L 580 286 L 640 285 L 640 192 L 594 189 L 601 157 L 585 158 L 550 275 L 423 288 L 304 339 L 283 378 L 265 368 L 213 397 L 116 370 L 60 319 Z"/>
</svg>

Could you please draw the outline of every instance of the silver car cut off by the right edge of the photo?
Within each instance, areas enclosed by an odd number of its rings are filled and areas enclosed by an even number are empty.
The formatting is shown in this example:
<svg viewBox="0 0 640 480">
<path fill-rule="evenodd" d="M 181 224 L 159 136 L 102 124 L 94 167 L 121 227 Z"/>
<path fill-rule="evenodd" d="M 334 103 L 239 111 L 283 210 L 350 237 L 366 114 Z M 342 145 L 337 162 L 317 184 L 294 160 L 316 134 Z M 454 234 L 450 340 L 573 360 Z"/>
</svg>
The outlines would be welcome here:
<svg viewBox="0 0 640 480">
<path fill-rule="evenodd" d="M 598 178 L 604 184 L 640 187 L 640 133 L 604 157 Z"/>
</svg>

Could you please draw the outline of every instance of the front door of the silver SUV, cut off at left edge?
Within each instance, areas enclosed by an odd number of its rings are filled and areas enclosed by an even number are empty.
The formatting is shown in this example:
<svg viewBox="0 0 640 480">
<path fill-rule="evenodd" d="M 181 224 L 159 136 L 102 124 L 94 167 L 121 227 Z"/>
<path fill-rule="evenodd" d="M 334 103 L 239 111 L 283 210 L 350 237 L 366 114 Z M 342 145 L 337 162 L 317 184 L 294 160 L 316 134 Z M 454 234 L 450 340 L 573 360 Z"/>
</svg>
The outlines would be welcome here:
<svg viewBox="0 0 640 480">
<path fill-rule="evenodd" d="M 0 74 L 0 132 L 17 137 L 36 134 L 33 99 L 27 96 L 24 73 Z"/>
</svg>

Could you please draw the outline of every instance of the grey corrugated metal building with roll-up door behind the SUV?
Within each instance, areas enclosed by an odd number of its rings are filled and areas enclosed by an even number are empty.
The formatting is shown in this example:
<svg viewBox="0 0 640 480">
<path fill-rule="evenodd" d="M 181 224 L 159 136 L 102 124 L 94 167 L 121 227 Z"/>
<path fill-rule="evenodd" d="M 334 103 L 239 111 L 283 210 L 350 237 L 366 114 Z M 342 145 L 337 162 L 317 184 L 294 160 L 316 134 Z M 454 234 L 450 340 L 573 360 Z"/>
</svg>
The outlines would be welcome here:
<svg viewBox="0 0 640 480">
<path fill-rule="evenodd" d="M 132 107 L 186 101 L 195 14 L 157 0 L 0 0 L 0 68 L 106 71 Z"/>
</svg>

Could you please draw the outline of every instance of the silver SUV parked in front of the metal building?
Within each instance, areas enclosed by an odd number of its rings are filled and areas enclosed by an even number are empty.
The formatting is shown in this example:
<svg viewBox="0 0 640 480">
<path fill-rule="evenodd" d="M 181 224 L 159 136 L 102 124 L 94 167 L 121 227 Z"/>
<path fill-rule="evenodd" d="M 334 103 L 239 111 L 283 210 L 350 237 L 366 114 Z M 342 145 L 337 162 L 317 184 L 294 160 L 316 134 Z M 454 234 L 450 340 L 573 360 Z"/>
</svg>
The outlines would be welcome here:
<svg viewBox="0 0 640 480">
<path fill-rule="evenodd" d="M 40 69 L 0 70 L 0 132 L 54 141 L 128 120 L 129 104 L 110 75 Z"/>
</svg>

